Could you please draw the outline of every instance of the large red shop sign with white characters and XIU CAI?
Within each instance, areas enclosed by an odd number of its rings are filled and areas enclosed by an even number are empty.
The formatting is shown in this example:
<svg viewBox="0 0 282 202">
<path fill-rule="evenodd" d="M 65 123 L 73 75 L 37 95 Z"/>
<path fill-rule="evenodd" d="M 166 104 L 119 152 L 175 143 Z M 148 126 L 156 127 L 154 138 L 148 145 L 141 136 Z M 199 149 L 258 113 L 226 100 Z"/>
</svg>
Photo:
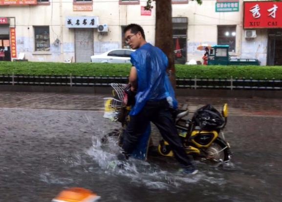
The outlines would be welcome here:
<svg viewBox="0 0 282 202">
<path fill-rule="evenodd" d="M 244 1 L 244 28 L 282 28 L 282 1 Z"/>
</svg>

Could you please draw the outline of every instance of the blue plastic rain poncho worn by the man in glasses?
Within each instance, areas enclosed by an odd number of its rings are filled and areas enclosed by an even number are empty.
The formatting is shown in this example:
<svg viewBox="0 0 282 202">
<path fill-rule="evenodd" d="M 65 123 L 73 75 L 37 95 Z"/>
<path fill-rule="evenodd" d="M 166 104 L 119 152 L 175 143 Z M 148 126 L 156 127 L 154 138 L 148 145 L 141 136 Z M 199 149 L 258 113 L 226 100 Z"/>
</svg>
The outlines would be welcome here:
<svg viewBox="0 0 282 202">
<path fill-rule="evenodd" d="M 137 70 L 137 93 L 135 105 L 130 115 L 138 114 L 146 101 L 167 99 L 173 108 L 177 108 L 174 89 L 167 76 L 168 58 L 158 47 L 145 43 L 131 53 L 130 61 Z"/>
</svg>

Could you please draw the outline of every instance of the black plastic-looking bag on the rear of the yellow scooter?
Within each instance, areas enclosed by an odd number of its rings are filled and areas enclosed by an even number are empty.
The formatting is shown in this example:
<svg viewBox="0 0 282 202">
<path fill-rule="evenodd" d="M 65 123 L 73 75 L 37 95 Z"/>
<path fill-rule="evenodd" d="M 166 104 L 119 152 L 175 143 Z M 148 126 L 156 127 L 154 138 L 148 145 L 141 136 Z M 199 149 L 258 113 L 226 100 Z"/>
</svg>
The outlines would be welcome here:
<svg viewBox="0 0 282 202">
<path fill-rule="evenodd" d="M 214 130 L 224 124 L 224 118 L 211 104 L 207 104 L 195 111 L 192 121 L 200 130 Z"/>
</svg>

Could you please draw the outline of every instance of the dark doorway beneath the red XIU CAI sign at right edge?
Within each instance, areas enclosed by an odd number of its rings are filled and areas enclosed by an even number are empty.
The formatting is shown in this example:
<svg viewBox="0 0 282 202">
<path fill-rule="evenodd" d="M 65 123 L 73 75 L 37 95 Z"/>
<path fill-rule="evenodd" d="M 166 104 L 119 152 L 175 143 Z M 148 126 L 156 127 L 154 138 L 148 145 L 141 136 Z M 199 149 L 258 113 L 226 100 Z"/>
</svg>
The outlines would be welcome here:
<svg viewBox="0 0 282 202">
<path fill-rule="evenodd" d="M 267 65 L 282 65 L 282 29 L 268 30 Z"/>
</svg>

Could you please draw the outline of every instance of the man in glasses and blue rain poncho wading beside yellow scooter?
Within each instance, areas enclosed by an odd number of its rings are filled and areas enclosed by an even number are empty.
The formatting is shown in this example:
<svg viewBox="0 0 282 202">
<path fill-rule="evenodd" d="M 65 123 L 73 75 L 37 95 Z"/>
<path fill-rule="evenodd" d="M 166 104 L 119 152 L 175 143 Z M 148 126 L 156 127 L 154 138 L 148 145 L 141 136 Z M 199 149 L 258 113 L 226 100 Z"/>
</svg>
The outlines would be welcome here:
<svg viewBox="0 0 282 202">
<path fill-rule="evenodd" d="M 130 61 L 130 91 L 136 93 L 135 103 L 130 110 L 130 121 L 123 134 L 122 154 L 119 160 L 126 160 L 152 121 L 174 152 L 175 159 L 187 174 L 197 170 L 186 155 L 174 125 L 170 107 L 176 108 L 174 90 L 166 73 L 168 59 L 164 52 L 146 42 L 140 25 L 130 24 L 124 29 L 125 40 L 132 49 Z"/>
</svg>

